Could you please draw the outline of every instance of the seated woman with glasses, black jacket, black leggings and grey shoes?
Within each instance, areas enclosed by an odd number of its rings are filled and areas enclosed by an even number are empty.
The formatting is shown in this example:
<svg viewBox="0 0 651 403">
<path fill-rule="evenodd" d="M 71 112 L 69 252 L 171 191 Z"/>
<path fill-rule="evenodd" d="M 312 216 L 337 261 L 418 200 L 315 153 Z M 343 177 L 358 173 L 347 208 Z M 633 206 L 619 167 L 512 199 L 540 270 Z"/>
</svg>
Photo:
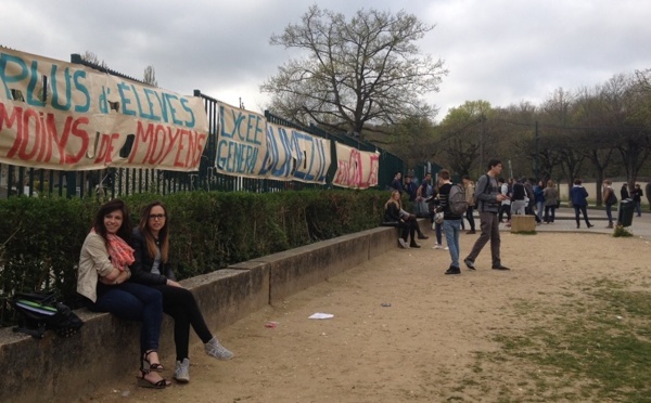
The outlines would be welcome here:
<svg viewBox="0 0 651 403">
<path fill-rule="evenodd" d="M 205 343 L 206 354 L 229 360 L 233 353 L 224 348 L 208 329 L 192 292 L 176 281 L 169 260 L 169 232 L 167 209 L 161 202 L 149 204 L 133 229 L 131 247 L 135 261 L 131 264 L 132 282 L 145 284 L 163 294 L 163 312 L 174 318 L 174 341 L 177 363 L 174 378 L 180 382 L 190 380 L 190 325 Z"/>
</svg>

